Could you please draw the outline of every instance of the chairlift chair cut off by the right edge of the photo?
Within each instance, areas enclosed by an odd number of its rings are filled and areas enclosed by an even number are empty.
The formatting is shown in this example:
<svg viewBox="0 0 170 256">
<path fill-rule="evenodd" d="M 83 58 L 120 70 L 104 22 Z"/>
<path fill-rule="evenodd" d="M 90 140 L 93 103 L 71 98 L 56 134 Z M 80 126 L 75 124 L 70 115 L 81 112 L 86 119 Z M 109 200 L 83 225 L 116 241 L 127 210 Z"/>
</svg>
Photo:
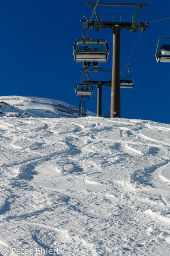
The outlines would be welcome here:
<svg viewBox="0 0 170 256">
<path fill-rule="evenodd" d="M 158 62 L 170 62 L 170 44 L 162 44 L 158 52 L 158 45 L 161 39 L 170 39 L 170 38 L 160 38 L 158 40 L 156 48 L 156 61 Z"/>
</svg>

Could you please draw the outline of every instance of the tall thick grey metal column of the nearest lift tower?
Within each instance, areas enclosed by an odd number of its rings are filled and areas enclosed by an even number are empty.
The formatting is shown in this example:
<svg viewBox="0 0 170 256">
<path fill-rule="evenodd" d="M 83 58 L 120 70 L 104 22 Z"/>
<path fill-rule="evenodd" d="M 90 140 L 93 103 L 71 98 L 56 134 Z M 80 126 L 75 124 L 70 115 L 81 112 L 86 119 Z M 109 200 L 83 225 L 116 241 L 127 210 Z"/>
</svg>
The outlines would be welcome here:
<svg viewBox="0 0 170 256">
<path fill-rule="evenodd" d="M 110 118 L 120 118 L 120 27 L 113 29 L 113 62 Z"/>
</svg>

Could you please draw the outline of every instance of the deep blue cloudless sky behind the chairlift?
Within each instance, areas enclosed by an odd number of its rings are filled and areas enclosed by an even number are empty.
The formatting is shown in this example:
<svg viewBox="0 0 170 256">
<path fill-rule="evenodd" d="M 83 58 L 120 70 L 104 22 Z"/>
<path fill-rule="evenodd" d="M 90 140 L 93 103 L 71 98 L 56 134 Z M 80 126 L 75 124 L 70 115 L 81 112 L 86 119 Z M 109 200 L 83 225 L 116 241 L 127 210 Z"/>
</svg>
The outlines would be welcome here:
<svg viewBox="0 0 170 256">
<path fill-rule="evenodd" d="M 95 0 L 96 1 L 96 0 Z M 104 2 L 104 0 L 99 0 Z M 105 2 L 114 2 L 106 0 Z M 148 3 L 143 7 L 138 21 L 153 21 L 170 17 L 170 1 L 116 0 L 124 3 Z M 104 21 L 129 22 L 137 7 L 101 7 Z M 83 15 L 90 18 L 91 6 L 86 0 L 5 0 L 0 1 L 0 96 L 32 95 L 59 98 L 78 106 L 75 85 L 80 81 L 82 63 L 73 59 L 72 47 L 82 36 Z M 95 14 L 92 20 L 96 20 Z M 140 34 L 121 30 L 120 71 L 123 69 Z M 85 32 L 86 35 L 86 32 Z M 88 36 L 106 39 L 109 44 L 107 63 L 103 70 L 112 69 L 112 30 L 103 29 Z M 157 41 L 170 37 L 170 20 L 149 24 L 141 34 L 129 60 L 134 89 L 121 89 L 121 117 L 148 119 L 170 123 L 170 63 L 155 60 Z M 170 44 L 170 40 L 164 41 Z M 89 73 L 91 79 L 108 80 L 109 73 Z M 122 75 L 126 74 L 126 69 Z M 86 77 L 85 77 L 86 79 Z M 102 87 L 102 113 L 110 104 L 111 89 Z M 96 112 L 97 88 L 86 109 Z"/>
</svg>

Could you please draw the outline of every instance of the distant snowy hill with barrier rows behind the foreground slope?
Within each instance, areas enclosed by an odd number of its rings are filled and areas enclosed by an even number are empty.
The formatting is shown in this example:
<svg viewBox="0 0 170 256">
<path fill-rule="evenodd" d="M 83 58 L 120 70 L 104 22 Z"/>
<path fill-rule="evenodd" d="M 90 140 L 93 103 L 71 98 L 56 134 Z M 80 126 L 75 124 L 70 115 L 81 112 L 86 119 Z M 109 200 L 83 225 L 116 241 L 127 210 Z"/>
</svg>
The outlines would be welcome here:
<svg viewBox="0 0 170 256">
<path fill-rule="evenodd" d="M 78 107 L 57 99 L 22 96 L 0 97 L 0 117 L 77 118 L 78 114 Z M 96 116 L 96 114 L 87 111 L 87 116 Z"/>
</svg>

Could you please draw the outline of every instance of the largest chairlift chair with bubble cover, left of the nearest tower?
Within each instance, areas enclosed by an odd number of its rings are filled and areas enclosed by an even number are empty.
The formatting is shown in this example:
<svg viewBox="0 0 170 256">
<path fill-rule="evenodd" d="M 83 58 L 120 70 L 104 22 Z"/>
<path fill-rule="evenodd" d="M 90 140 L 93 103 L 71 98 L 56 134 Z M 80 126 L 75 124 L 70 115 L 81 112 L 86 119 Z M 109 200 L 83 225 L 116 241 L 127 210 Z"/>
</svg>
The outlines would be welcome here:
<svg viewBox="0 0 170 256">
<path fill-rule="evenodd" d="M 78 39 L 74 42 L 75 62 L 107 62 L 109 48 L 103 39 Z"/>
</svg>

